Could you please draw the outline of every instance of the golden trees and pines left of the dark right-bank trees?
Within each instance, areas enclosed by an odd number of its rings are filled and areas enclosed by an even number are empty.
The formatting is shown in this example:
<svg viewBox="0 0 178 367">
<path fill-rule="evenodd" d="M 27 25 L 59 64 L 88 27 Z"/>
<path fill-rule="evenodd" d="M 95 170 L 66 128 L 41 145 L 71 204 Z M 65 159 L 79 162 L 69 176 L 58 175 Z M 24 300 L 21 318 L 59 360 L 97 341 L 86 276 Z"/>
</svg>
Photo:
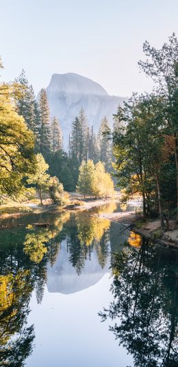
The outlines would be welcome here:
<svg viewBox="0 0 178 367">
<path fill-rule="evenodd" d="M 113 194 L 112 144 L 104 134 L 111 133 L 107 119 L 101 120 L 96 134 L 81 109 L 64 151 L 60 121 L 50 117 L 47 92 L 41 89 L 36 98 L 25 71 L 14 82 L 1 82 L 0 130 L 1 204 L 30 199 L 34 189 L 41 205 L 47 193 L 53 203 L 64 205 L 65 192 L 76 188 L 89 197 Z"/>
</svg>

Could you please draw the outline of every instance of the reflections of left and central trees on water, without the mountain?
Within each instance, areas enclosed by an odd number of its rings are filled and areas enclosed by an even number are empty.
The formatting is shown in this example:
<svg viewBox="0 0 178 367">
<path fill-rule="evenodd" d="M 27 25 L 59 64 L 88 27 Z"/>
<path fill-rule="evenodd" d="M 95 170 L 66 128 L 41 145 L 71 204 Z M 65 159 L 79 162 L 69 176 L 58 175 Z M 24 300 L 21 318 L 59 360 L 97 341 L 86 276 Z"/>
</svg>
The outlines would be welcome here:
<svg viewBox="0 0 178 367">
<path fill-rule="evenodd" d="M 24 221 L 27 225 L 27 219 Z M 67 240 L 68 258 L 79 275 L 93 251 L 101 268 L 110 253 L 107 219 L 62 212 L 53 216 L 49 227 L 25 225 L 1 232 L 0 366 L 23 366 L 32 351 L 34 327 L 27 326 L 31 293 L 34 291 L 37 302 L 42 302 L 47 265 L 55 263 L 61 241 Z"/>
</svg>

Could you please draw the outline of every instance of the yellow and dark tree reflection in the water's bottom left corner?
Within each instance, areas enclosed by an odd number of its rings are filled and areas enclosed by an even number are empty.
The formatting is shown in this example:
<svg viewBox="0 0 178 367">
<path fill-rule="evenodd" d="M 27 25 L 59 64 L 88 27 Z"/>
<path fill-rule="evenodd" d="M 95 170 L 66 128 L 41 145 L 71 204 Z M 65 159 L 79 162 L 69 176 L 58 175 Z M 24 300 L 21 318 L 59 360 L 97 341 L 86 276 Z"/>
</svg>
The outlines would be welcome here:
<svg viewBox="0 0 178 367">
<path fill-rule="evenodd" d="M 0 276 L 0 366 L 23 366 L 32 351 L 34 326 L 26 326 L 31 290 L 29 271 Z"/>
</svg>

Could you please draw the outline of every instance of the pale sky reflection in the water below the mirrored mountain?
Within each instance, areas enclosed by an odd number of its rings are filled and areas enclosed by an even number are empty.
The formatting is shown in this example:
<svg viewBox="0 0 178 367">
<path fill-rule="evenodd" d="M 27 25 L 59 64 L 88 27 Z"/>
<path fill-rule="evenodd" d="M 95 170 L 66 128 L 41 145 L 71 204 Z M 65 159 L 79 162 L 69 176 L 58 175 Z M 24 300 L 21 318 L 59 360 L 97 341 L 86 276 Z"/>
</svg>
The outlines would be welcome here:
<svg viewBox="0 0 178 367">
<path fill-rule="evenodd" d="M 112 300 L 110 282 L 105 274 L 93 287 L 70 295 L 46 288 L 40 305 L 33 294 L 29 324 L 35 325 L 36 347 L 27 367 L 131 366 L 131 357 L 97 315 Z"/>
</svg>

